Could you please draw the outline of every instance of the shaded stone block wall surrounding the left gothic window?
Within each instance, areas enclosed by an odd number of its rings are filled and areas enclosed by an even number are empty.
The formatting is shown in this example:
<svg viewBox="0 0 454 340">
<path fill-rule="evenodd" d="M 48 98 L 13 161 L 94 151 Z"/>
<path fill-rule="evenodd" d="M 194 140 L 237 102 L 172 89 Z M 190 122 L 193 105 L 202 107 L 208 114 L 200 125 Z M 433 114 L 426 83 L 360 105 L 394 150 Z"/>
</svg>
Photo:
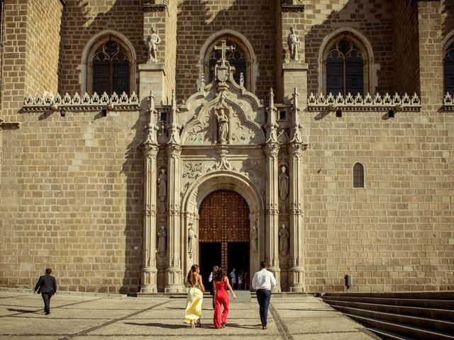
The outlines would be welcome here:
<svg viewBox="0 0 454 340">
<path fill-rule="evenodd" d="M 74 94 L 82 89 L 82 54 L 87 43 L 104 30 L 124 35 L 133 45 L 138 60 L 146 62 L 143 41 L 143 9 L 141 0 L 67 1 L 62 24 L 62 79 L 60 92 Z M 136 69 L 135 72 L 138 72 Z M 138 73 L 136 73 L 138 74 Z M 135 90 L 138 89 L 138 81 Z M 136 91 L 137 92 L 137 91 Z"/>
</svg>

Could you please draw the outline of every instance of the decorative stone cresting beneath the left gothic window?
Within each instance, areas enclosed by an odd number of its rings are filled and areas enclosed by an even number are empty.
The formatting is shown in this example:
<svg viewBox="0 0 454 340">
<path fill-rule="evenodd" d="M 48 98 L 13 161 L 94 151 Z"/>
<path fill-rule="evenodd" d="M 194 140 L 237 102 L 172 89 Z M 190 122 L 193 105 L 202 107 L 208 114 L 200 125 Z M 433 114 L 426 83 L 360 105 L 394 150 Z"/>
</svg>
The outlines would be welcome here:
<svg viewBox="0 0 454 340">
<path fill-rule="evenodd" d="M 101 108 L 109 108 L 109 110 L 114 110 L 114 108 L 117 110 L 137 110 L 139 108 L 139 99 L 134 91 L 129 96 L 123 91 L 121 96 L 114 92 L 110 97 L 106 92 L 101 97 L 96 92 L 92 96 L 85 92 L 82 97 L 77 92 L 72 97 L 68 93 L 63 97 L 60 94 L 55 96 L 47 94 L 44 98 L 37 94 L 35 98 L 28 95 L 23 101 L 23 111 L 43 111 L 43 109 L 51 109 L 52 111 L 59 109 L 99 110 Z"/>
</svg>

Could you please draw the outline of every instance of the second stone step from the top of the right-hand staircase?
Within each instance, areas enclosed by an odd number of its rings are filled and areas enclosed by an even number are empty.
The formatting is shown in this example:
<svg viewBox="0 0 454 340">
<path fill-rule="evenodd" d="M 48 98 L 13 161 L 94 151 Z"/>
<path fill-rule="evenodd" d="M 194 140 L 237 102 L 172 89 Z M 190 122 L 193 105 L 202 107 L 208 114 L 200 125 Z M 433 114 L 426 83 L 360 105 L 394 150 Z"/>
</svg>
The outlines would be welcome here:
<svg viewBox="0 0 454 340">
<path fill-rule="evenodd" d="M 454 321 L 454 310 L 443 310 L 437 308 L 426 308 L 426 307 L 408 307 L 404 305 L 384 305 L 376 303 L 366 302 L 352 302 L 345 300 L 327 300 L 323 299 L 331 307 L 355 307 L 362 310 L 372 310 L 376 312 L 387 312 L 394 314 L 405 314 L 416 317 L 428 317 L 438 320 Z"/>
</svg>

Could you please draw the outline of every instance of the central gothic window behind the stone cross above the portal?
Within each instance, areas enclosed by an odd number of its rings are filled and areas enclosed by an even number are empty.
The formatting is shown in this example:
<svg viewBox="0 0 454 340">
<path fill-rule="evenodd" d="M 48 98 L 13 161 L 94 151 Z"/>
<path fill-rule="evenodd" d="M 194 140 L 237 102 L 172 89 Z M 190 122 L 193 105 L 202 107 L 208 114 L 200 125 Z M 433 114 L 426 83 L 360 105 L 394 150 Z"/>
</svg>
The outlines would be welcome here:
<svg viewBox="0 0 454 340">
<path fill-rule="evenodd" d="M 223 35 L 221 38 L 216 38 L 206 51 L 204 73 L 208 75 L 207 80 L 211 82 L 214 78 L 214 67 L 216 66 L 216 62 L 221 59 L 221 51 L 214 50 L 214 46 L 221 45 L 222 40 L 226 40 L 227 46 L 234 47 L 233 51 L 226 52 L 226 60 L 232 67 L 235 67 L 233 79 L 235 79 L 237 84 L 240 84 L 240 74 L 243 73 L 244 86 L 250 91 L 250 55 L 240 40 L 230 35 Z"/>
</svg>

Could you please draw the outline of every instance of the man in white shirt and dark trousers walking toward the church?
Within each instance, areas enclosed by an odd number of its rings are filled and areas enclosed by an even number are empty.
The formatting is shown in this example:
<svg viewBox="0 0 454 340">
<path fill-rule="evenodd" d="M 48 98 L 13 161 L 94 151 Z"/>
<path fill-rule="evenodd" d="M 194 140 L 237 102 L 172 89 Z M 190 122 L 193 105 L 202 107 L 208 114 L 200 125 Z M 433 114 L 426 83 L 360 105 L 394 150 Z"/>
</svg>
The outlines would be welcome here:
<svg viewBox="0 0 454 340">
<path fill-rule="evenodd" d="M 262 267 L 262 270 L 256 272 L 253 277 L 253 289 L 256 290 L 258 305 L 260 306 L 262 329 L 268 329 L 268 306 L 270 305 L 271 288 L 276 287 L 276 279 L 270 271 L 267 271 L 267 261 L 262 261 L 260 267 Z"/>
</svg>

